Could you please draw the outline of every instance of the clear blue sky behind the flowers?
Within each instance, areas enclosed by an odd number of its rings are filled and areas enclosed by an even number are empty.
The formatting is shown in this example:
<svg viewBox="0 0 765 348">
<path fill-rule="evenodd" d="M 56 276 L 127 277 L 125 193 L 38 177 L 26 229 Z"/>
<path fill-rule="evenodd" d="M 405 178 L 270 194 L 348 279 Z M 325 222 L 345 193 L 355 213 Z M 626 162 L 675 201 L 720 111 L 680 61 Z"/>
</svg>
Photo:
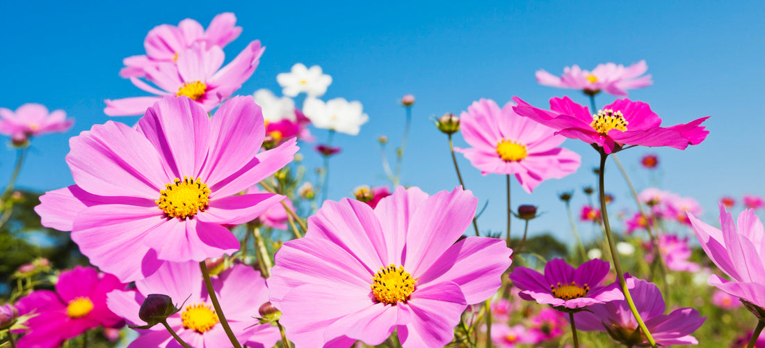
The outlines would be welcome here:
<svg viewBox="0 0 765 348">
<path fill-rule="evenodd" d="M 575 63 L 591 69 L 597 63 L 638 60 L 648 63 L 654 86 L 632 91 L 631 99 L 649 102 L 666 125 L 712 118 L 702 145 L 620 153 L 637 186 L 649 183 L 638 160 L 652 152 L 659 154 L 661 187 L 695 197 L 709 222 L 717 220 L 715 202 L 721 196 L 765 194 L 763 2 L 5 1 L 0 5 L 0 106 L 40 102 L 76 119 L 69 133 L 34 140 L 18 184 L 36 190 L 73 184 L 64 162 L 67 139 L 109 119 L 103 99 L 145 95 L 117 75 L 122 58 L 143 54 L 144 37 L 155 25 L 194 18 L 207 26 L 223 11 L 233 11 L 244 28 L 225 49 L 229 59 L 255 39 L 267 47 L 239 94 L 259 88 L 279 94 L 276 74 L 302 62 L 321 65 L 333 77 L 324 99 L 342 96 L 363 103 L 370 121 L 360 134 L 335 137 L 343 152 L 332 158 L 331 199 L 346 197 L 360 184 L 386 184 L 376 138 L 388 135 L 391 150 L 398 144 L 404 122 L 398 99 L 406 93 L 417 103 L 403 183 L 433 194 L 451 190 L 457 181 L 446 138 L 431 125 L 431 115 L 459 113 L 481 97 L 503 105 L 520 96 L 546 107 L 552 96 L 568 95 L 584 103 L 588 100 L 574 90 L 539 86 L 535 70 L 558 74 Z M 598 106 L 613 99 L 598 96 Z M 322 130 L 314 134 L 326 137 Z M 455 140 L 464 145 L 461 136 Z M 513 187 L 513 205 L 537 204 L 547 212 L 532 232 L 552 230 L 562 239 L 568 239 L 568 223 L 556 194 L 594 184 L 591 167 L 597 165 L 588 145 L 569 140 L 565 146 L 583 157 L 578 173 L 545 182 L 532 195 L 517 183 Z M 309 168 L 320 164 L 311 148 L 302 152 Z M 11 148 L 0 148 L 0 183 L 8 181 L 14 158 Z M 481 205 L 490 202 L 482 229 L 503 230 L 504 178 L 483 177 L 459 159 L 467 187 Z M 614 210 L 632 208 L 615 167 L 608 168 L 607 181 L 607 190 L 619 200 Z M 574 206 L 583 202 L 578 190 Z"/>
</svg>

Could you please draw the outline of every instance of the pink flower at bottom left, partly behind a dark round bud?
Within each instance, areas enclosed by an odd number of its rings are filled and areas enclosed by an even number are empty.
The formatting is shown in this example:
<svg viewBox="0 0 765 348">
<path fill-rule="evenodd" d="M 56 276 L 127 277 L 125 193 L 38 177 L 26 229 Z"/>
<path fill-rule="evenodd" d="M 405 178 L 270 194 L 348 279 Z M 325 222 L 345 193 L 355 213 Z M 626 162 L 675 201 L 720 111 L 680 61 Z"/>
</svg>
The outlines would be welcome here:
<svg viewBox="0 0 765 348">
<path fill-rule="evenodd" d="M 246 265 L 234 265 L 210 279 L 220 308 L 226 314 L 234 335 L 249 347 L 272 347 L 282 339 L 277 327 L 258 324 L 258 307 L 269 301 L 269 289 L 260 272 Z M 114 313 L 125 317 L 129 324 L 146 323 L 138 310 L 148 294 L 166 294 L 173 304 L 183 306 L 168 317 L 168 324 L 190 346 L 218 348 L 232 346 L 220 321 L 210 295 L 205 288 L 202 272 L 196 262 L 171 262 L 155 274 L 135 282 L 135 291 L 112 291 L 107 304 Z M 184 304 L 185 302 L 185 304 Z M 155 325 L 141 334 L 129 347 L 178 346 L 168 330 Z"/>
</svg>

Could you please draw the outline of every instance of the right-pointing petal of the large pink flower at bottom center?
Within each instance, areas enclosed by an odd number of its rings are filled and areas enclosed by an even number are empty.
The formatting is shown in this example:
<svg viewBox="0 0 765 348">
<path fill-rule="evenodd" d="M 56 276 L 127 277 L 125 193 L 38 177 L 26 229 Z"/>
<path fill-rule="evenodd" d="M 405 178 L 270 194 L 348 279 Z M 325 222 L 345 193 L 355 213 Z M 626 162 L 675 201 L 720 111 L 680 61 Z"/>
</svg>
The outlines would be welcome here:
<svg viewBox="0 0 765 348">
<path fill-rule="evenodd" d="M 502 239 L 468 237 L 433 262 L 418 284 L 452 281 L 460 286 L 467 304 L 477 304 L 499 290 L 512 252 Z"/>
</svg>

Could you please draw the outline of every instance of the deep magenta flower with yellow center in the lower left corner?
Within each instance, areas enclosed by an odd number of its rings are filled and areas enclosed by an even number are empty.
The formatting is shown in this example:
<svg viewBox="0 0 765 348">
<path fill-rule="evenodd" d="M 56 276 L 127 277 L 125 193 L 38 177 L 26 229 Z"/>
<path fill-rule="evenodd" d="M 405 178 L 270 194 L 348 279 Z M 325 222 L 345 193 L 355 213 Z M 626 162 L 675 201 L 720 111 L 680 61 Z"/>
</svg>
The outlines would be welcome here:
<svg viewBox="0 0 765 348">
<path fill-rule="evenodd" d="M 61 272 L 56 291 L 37 290 L 16 303 L 19 314 L 37 314 L 24 323 L 29 330 L 18 346 L 53 348 L 99 326 L 122 327 L 122 318 L 106 307 L 106 294 L 123 287 L 115 276 L 92 267 Z"/>
</svg>

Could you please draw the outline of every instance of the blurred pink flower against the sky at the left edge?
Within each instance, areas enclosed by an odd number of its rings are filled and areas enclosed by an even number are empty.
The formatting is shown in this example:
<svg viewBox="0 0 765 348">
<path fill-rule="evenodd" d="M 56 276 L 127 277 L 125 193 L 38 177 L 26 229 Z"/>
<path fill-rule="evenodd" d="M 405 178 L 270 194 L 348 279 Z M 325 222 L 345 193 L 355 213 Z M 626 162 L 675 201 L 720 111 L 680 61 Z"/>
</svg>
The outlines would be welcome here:
<svg viewBox="0 0 765 348">
<path fill-rule="evenodd" d="M 19 106 L 15 112 L 0 108 L 0 134 L 10 136 L 15 144 L 24 144 L 34 135 L 67 132 L 73 123 L 73 119 L 67 119 L 67 112 L 48 112 L 41 104 L 30 102 Z"/>
</svg>

